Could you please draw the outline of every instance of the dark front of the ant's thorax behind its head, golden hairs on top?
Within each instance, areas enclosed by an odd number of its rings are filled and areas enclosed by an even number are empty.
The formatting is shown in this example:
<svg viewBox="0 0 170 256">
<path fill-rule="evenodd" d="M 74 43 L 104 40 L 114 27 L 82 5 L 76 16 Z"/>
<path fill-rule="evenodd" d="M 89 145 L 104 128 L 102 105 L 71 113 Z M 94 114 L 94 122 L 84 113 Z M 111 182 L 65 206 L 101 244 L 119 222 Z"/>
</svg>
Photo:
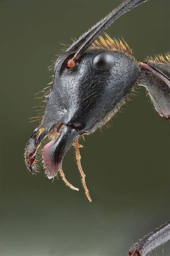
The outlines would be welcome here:
<svg viewBox="0 0 170 256">
<path fill-rule="evenodd" d="M 159 55 L 155 58 L 147 57 L 146 62 L 138 62 L 141 68 L 138 85 L 148 91 L 156 111 L 163 118 L 170 121 L 170 54 Z"/>
</svg>

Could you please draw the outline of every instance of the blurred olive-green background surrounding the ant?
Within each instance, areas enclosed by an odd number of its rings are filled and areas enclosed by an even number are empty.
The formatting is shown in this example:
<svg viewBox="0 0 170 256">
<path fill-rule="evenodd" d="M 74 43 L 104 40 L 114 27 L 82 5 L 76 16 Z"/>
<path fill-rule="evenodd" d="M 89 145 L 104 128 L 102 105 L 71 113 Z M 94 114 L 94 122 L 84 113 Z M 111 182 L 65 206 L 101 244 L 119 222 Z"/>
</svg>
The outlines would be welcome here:
<svg viewBox="0 0 170 256">
<path fill-rule="evenodd" d="M 169 124 L 144 88 L 112 126 L 85 136 L 81 186 L 74 149 L 63 161 L 80 191 L 31 175 L 24 147 L 37 123 L 34 94 L 51 81 L 47 66 L 120 0 L 0 1 L 1 256 L 124 256 L 134 242 L 169 219 Z M 107 30 L 139 61 L 169 50 L 169 1 L 150 0 Z M 123 107 L 125 109 L 125 107 Z M 164 254 L 162 253 L 164 249 Z M 169 255 L 169 244 L 151 255 Z"/>
</svg>

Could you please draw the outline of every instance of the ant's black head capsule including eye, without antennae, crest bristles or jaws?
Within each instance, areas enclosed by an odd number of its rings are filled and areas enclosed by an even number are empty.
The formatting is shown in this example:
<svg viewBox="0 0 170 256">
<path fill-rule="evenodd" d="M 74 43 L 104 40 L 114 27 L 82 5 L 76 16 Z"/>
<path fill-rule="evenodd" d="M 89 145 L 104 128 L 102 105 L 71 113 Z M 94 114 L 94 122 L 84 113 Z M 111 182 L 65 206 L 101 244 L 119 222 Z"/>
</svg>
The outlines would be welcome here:
<svg viewBox="0 0 170 256">
<path fill-rule="evenodd" d="M 56 65 L 42 126 L 49 131 L 62 123 L 79 134 L 92 133 L 124 103 L 140 68 L 132 56 L 118 51 L 88 50 L 68 69 L 70 58 Z"/>
</svg>

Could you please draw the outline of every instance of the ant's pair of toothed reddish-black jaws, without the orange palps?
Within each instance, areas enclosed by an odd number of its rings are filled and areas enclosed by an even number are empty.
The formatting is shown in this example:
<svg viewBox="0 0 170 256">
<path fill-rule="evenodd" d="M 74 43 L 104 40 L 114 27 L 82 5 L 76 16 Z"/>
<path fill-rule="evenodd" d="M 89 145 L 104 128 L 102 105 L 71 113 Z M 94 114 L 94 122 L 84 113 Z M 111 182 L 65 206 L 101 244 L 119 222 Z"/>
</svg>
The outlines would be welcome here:
<svg viewBox="0 0 170 256">
<path fill-rule="evenodd" d="M 42 149 L 42 162 L 45 174 L 51 179 L 57 175 L 63 156 L 80 134 L 76 129 L 63 125 L 60 128 L 55 127 L 51 129 L 49 133 L 44 131 L 43 128 L 38 127 L 30 137 L 25 150 L 25 163 L 32 173 L 36 173 L 35 159 L 37 149 L 40 146 L 41 141 L 49 135 L 51 141 Z"/>
</svg>

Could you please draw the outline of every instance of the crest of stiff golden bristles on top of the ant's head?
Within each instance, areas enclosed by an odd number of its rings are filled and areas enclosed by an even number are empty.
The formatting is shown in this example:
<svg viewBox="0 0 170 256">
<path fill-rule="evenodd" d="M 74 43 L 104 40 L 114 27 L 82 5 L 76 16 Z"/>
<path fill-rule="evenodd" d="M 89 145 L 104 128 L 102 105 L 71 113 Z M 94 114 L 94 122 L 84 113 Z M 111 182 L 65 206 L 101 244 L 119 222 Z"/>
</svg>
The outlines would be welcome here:
<svg viewBox="0 0 170 256">
<path fill-rule="evenodd" d="M 132 53 L 132 49 L 128 46 L 128 44 L 126 43 L 126 41 L 124 41 L 123 39 L 115 39 L 115 38 L 111 38 L 108 34 L 105 34 L 105 38 L 103 38 L 102 36 L 99 36 L 99 41 L 95 40 L 94 43 L 91 44 L 91 46 L 89 47 L 90 50 L 93 49 L 105 49 L 105 50 L 112 50 L 112 51 L 118 51 L 118 52 L 122 52 L 126 55 L 128 55 L 129 57 L 133 57 L 133 53 Z"/>
</svg>

